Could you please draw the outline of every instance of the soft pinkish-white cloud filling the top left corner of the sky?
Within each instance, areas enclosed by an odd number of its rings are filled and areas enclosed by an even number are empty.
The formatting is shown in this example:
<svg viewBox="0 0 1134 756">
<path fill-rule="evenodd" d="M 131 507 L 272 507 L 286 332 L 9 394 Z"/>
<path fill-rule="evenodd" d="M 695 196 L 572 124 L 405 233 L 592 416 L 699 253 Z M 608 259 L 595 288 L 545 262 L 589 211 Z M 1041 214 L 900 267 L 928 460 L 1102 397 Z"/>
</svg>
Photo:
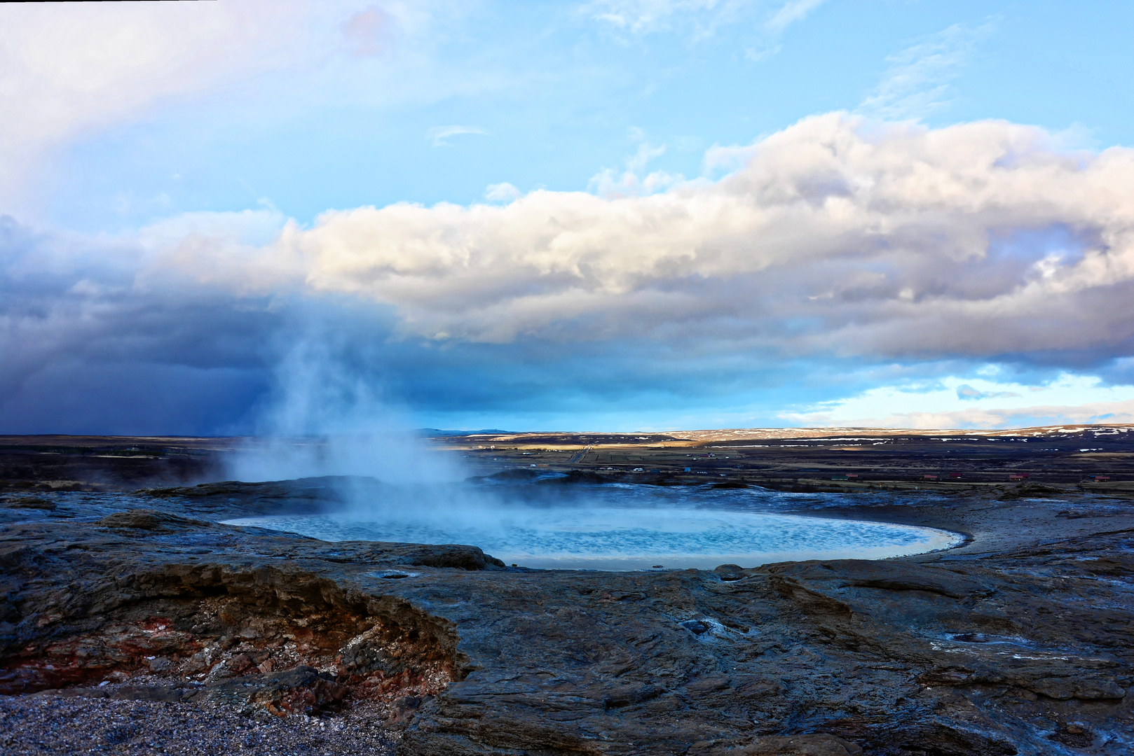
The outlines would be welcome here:
<svg viewBox="0 0 1134 756">
<path fill-rule="evenodd" d="M 0 212 L 34 216 L 29 177 L 100 129 L 203 95 L 239 97 L 271 73 L 294 90 L 344 53 L 379 56 L 396 31 L 420 34 L 435 5 L 0 3 Z"/>
</svg>

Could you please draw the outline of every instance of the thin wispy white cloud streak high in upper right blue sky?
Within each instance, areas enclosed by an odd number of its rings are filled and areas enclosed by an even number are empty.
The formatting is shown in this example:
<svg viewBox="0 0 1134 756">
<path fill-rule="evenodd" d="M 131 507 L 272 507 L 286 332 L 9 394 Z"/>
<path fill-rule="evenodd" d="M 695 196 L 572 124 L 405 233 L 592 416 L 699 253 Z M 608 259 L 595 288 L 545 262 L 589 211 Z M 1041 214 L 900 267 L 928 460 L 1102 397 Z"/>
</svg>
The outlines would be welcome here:
<svg viewBox="0 0 1134 756">
<path fill-rule="evenodd" d="M 904 120 L 946 108 L 949 82 L 960 75 L 973 49 L 993 31 L 993 22 L 975 28 L 954 24 L 890 56 L 882 80 L 857 110 L 873 118 Z"/>
</svg>

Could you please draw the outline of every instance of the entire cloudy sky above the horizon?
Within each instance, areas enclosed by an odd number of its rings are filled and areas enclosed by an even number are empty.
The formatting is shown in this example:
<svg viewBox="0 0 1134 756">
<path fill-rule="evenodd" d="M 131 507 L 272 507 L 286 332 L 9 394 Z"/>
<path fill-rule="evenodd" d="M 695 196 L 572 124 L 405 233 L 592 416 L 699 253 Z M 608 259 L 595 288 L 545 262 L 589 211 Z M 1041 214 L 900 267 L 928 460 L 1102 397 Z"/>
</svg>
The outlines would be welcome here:
<svg viewBox="0 0 1134 756">
<path fill-rule="evenodd" d="M 0 433 L 1134 422 L 1132 26 L 0 5 Z"/>
</svg>

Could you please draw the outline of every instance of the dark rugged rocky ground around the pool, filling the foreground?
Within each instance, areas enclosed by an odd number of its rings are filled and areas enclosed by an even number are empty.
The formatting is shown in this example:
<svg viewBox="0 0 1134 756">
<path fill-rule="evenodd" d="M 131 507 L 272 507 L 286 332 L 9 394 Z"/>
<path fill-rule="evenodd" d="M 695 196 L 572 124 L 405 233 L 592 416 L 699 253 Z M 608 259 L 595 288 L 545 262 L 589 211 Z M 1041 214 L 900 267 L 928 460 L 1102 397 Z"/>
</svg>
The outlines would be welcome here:
<svg viewBox="0 0 1134 756">
<path fill-rule="evenodd" d="M 318 484 L 6 496 L 0 750 L 1134 753 L 1125 500 L 824 509 L 972 537 L 711 572 L 217 523 L 318 501 Z"/>
</svg>

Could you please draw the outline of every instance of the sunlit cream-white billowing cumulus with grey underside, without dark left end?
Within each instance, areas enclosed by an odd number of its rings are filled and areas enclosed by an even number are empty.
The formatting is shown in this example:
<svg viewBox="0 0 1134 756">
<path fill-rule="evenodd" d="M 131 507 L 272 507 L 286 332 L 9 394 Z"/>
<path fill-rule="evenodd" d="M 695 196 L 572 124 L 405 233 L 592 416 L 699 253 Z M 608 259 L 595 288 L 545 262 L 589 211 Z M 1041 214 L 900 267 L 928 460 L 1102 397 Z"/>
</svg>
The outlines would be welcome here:
<svg viewBox="0 0 1134 756">
<path fill-rule="evenodd" d="M 1007 122 L 844 113 L 754 145 L 719 181 L 536 190 L 289 224 L 310 291 L 390 305 L 406 334 L 507 342 L 709 338 L 878 358 L 1131 352 L 1134 151 L 1056 150 Z"/>
</svg>

